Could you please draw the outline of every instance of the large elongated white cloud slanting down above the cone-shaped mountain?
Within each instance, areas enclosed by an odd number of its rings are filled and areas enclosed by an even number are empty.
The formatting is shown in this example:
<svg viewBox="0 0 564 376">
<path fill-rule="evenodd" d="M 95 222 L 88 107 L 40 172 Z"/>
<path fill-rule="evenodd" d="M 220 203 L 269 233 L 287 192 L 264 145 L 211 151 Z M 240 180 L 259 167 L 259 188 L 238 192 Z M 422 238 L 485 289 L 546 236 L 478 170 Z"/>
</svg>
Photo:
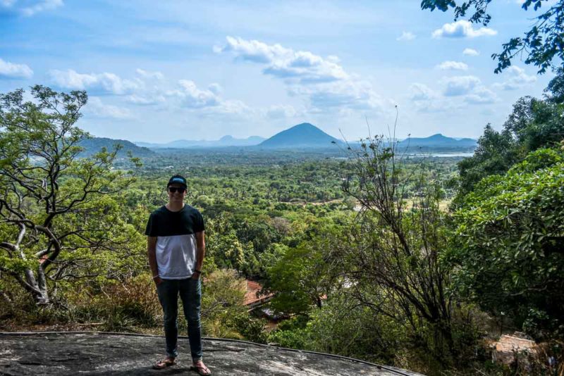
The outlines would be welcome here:
<svg viewBox="0 0 564 376">
<path fill-rule="evenodd" d="M 301 84 L 345 80 L 347 73 L 336 56 L 321 58 L 309 51 L 294 51 L 280 44 L 226 37 L 227 44 L 215 51 L 231 51 L 236 58 L 266 65 L 263 73 Z"/>
</svg>

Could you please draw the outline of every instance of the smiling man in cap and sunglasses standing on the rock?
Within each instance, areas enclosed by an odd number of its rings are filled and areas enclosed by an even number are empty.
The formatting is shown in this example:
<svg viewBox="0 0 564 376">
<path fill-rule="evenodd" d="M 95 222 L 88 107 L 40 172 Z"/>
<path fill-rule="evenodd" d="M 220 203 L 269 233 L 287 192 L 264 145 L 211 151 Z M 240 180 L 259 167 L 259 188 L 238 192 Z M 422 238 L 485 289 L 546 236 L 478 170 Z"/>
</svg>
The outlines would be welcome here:
<svg viewBox="0 0 564 376">
<path fill-rule="evenodd" d="M 168 180 L 168 203 L 151 213 L 145 234 L 147 254 L 157 294 L 164 312 L 166 358 L 154 368 L 176 364 L 178 341 L 178 295 L 188 321 L 188 337 L 193 365 L 200 375 L 211 375 L 202 361 L 202 329 L 200 327 L 200 275 L 204 262 L 204 218 L 192 206 L 185 205 L 186 180 L 174 175 Z"/>
</svg>

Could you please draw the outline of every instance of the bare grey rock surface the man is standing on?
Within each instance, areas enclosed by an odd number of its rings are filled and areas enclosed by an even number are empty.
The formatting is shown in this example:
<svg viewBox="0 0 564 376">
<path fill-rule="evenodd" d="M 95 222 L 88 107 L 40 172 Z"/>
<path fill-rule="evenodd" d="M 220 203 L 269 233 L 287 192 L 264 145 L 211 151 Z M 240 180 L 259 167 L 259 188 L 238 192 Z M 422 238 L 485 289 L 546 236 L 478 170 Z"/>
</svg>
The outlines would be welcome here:
<svg viewBox="0 0 564 376">
<path fill-rule="evenodd" d="M 109 333 L 0 334 L 0 375 L 197 375 L 188 339 L 179 339 L 178 364 L 153 370 L 164 337 Z M 204 361 L 221 375 L 418 375 L 325 354 L 224 339 L 204 339 Z"/>
</svg>

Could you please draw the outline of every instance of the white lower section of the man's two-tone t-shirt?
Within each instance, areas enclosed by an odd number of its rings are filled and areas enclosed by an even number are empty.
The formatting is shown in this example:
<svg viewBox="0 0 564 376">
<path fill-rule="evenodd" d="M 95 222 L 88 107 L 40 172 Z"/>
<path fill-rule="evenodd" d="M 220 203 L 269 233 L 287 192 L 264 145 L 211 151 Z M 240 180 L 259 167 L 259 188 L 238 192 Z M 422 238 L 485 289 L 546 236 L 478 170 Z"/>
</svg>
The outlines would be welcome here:
<svg viewBox="0 0 564 376">
<path fill-rule="evenodd" d="M 157 237 L 157 265 L 163 280 L 189 278 L 196 268 L 196 236 Z"/>
</svg>

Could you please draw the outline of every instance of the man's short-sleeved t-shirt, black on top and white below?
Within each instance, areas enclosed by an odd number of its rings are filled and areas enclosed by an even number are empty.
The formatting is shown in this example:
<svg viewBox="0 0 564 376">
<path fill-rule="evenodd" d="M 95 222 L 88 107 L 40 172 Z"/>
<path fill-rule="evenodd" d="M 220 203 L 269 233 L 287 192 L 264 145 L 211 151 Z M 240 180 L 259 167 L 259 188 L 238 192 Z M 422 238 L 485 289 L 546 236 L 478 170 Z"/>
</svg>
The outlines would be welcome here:
<svg viewBox="0 0 564 376">
<path fill-rule="evenodd" d="M 204 218 L 185 205 L 180 211 L 161 206 L 151 213 L 145 235 L 157 237 L 157 266 L 164 280 L 183 280 L 196 268 L 196 236 L 204 231 Z"/>
</svg>

